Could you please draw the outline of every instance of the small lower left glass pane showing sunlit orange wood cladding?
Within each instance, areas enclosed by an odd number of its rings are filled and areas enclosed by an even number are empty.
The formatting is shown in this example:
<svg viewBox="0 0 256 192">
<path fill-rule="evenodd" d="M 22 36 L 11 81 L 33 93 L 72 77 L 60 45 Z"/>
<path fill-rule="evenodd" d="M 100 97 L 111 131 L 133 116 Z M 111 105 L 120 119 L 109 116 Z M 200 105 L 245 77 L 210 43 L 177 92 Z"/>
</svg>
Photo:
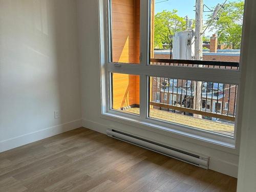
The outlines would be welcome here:
<svg viewBox="0 0 256 192">
<path fill-rule="evenodd" d="M 139 114 L 140 76 L 112 73 L 112 109 Z"/>
</svg>

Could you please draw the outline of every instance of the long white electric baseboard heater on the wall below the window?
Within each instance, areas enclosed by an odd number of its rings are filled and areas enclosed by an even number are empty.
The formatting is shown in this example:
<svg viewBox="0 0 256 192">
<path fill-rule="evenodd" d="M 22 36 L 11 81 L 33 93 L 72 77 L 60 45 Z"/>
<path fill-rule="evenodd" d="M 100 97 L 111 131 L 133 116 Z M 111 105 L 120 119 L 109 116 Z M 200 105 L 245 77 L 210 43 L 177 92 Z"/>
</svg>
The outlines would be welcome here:
<svg viewBox="0 0 256 192">
<path fill-rule="evenodd" d="M 174 147 L 169 147 L 154 141 L 143 139 L 134 135 L 126 134 L 117 130 L 108 129 L 106 134 L 110 137 L 129 142 L 147 148 L 148 150 L 208 169 L 209 167 L 209 157 L 201 156 L 193 153 L 188 153 L 182 150 L 179 150 Z"/>
</svg>

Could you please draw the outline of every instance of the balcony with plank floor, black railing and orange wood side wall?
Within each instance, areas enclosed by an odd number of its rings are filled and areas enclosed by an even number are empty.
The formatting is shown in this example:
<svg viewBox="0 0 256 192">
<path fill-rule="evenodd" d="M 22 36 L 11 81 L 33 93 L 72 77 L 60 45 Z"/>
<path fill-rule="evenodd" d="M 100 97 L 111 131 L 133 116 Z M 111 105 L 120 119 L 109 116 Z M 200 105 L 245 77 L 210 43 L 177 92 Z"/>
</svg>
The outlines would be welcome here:
<svg viewBox="0 0 256 192">
<path fill-rule="evenodd" d="M 238 62 L 151 59 L 153 65 L 238 70 Z M 238 86 L 150 77 L 149 117 L 233 137 Z M 113 109 L 139 114 L 139 76 L 113 74 Z"/>
</svg>

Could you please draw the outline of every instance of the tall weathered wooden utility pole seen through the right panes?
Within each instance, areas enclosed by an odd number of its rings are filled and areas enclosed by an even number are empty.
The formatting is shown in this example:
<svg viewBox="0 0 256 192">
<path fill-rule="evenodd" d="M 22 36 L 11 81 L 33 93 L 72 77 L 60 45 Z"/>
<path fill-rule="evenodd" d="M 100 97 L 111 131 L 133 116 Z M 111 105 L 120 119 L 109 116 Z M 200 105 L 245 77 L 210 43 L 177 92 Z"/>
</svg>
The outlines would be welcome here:
<svg viewBox="0 0 256 192">
<path fill-rule="evenodd" d="M 196 0 L 195 60 L 203 60 L 203 6 L 203 0 Z M 194 82 L 194 109 L 196 110 L 201 110 L 201 90 L 202 82 Z M 202 118 L 202 115 L 194 114 L 194 117 Z"/>
</svg>

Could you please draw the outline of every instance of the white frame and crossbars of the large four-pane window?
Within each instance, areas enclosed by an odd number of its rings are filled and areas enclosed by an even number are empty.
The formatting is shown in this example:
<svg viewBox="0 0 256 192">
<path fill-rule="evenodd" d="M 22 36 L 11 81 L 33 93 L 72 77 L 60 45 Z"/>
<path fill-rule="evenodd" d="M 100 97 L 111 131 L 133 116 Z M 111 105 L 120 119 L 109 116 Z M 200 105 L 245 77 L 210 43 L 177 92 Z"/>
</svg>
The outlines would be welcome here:
<svg viewBox="0 0 256 192">
<path fill-rule="evenodd" d="M 100 1 L 100 0 L 99 0 Z M 148 84 L 149 77 L 165 77 L 174 79 L 189 79 L 205 82 L 236 84 L 240 87 L 241 67 L 239 70 L 222 70 L 212 68 L 190 68 L 180 66 L 149 65 L 150 50 L 150 0 L 140 1 L 140 64 L 110 62 L 111 60 L 111 20 L 110 2 L 101 1 L 100 14 L 100 61 L 101 61 L 101 114 L 103 118 L 122 123 L 143 125 L 150 131 L 168 133 L 182 138 L 193 138 L 196 143 L 214 143 L 217 148 L 235 148 L 237 138 L 237 122 L 234 127 L 234 137 L 200 130 L 194 127 L 153 119 L 148 116 Z M 123 113 L 111 109 L 111 73 L 133 74 L 140 76 L 140 114 Z M 238 89 L 239 93 L 239 89 Z M 238 94 L 239 95 L 239 94 Z M 237 118 L 236 118 L 237 121 Z M 196 140 L 195 140 L 196 139 Z"/>
</svg>

